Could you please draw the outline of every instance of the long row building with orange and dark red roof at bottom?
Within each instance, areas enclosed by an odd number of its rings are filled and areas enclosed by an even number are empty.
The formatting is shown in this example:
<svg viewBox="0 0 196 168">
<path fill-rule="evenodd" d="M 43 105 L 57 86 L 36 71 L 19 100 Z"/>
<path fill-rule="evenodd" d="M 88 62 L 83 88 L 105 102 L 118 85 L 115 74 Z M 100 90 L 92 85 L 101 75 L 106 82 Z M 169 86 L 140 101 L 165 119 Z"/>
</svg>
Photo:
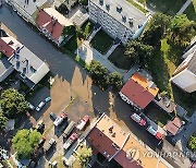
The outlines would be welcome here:
<svg viewBox="0 0 196 168">
<path fill-rule="evenodd" d="M 97 159 L 98 156 L 102 156 L 106 161 L 115 160 L 123 168 L 172 167 L 161 157 L 156 157 L 154 151 L 146 145 L 144 146 L 143 142 L 124 131 L 105 113 L 98 119 L 86 140 Z M 143 155 L 147 153 L 154 157 Z M 103 164 L 105 161 L 99 167 Z"/>
</svg>

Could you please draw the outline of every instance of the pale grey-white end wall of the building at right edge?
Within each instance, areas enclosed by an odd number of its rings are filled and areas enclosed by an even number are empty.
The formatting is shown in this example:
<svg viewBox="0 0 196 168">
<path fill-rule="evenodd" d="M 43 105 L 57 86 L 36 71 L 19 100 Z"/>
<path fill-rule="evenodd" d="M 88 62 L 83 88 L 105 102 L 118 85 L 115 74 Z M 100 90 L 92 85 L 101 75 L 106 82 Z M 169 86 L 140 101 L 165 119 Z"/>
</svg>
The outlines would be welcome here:
<svg viewBox="0 0 196 168">
<path fill-rule="evenodd" d="M 187 93 L 196 91 L 196 75 L 187 69 L 177 73 L 171 81 Z"/>
</svg>

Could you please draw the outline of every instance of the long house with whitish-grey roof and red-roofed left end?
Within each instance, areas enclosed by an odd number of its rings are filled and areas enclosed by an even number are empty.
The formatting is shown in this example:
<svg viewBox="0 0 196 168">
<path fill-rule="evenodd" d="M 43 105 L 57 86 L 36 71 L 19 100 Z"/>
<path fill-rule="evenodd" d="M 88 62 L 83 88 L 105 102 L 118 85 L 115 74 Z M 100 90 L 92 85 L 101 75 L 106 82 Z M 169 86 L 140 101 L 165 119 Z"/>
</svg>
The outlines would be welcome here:
<svg viewBox="0 0 196 168">
<path fill-rule="evenodd" d="M 17 71 L 19 79 L 30 88 L 49 72 L 44 61 L 12 36 L 0 38 L 0 51 L 5 55 L 9 67 L 12 65 L 10 69 Z"/>
</svg>

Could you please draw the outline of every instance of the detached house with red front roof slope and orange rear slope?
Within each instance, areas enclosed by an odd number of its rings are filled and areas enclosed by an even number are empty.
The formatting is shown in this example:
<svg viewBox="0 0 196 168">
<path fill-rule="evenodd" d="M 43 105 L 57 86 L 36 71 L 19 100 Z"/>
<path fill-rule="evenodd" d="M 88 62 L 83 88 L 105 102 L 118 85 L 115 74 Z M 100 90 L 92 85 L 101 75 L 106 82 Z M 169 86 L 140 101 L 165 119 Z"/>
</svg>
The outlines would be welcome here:
<svg viewBox="0 0 196 168">
<path fill-rule="evenodd" d="M 120 91 L 121 98 L 136 109 L 144 109 L 157 96 L 159 88 L 154 82 L 135 73 Z"/>
</svg>

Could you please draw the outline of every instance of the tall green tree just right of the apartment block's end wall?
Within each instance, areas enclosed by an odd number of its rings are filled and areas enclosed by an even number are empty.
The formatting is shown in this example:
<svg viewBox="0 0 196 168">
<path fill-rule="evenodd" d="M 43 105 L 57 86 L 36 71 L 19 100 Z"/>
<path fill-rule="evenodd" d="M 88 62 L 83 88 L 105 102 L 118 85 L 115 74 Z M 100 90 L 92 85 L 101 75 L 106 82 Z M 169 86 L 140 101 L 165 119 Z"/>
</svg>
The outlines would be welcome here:
<svg viewBox="0 0 196 168">
<path fill-rule="evenodd" d="M 171 16 L 163 13 L 152 15 L 145 33 L 142 35 L 142 41 L 150 46 L 160 46 L 161 39 L 164 37 L 169 27 Z"/>
</svg>

